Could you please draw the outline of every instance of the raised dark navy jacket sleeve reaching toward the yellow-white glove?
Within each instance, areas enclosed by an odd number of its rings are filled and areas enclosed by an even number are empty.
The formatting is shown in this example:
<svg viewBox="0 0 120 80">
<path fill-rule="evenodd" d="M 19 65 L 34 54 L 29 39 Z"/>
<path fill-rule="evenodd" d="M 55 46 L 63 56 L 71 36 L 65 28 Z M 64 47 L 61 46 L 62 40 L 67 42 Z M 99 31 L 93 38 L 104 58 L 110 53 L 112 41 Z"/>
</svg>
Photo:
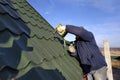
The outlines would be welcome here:
<svg viewBox="0 0 120 80">
<path fill-rule="evenodd" d="M 86 41 L 91 41 L 93 39 L 93 34 L 84 29 L 83 27 L 66 25 L 66 32 L 79 36 L 81 39 Z"/>
</svg>

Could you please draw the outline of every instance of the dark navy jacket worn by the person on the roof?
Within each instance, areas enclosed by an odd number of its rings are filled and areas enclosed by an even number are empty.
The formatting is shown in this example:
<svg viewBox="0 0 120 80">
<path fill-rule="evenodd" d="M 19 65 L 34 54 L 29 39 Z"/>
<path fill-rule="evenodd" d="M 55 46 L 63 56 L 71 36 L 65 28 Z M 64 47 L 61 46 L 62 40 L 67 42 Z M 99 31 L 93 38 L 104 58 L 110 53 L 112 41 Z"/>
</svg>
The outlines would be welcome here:
<svg viewBox="0 0 120 80">
<path fill-rule="evenodd" d="M 66 33 L 77 36 L 75 41 L 78 60 L 85 74 L 107 66 L 105 58 L 100 52 L 93 34 L 83 27 L 66 25 Z"/>
</svg>

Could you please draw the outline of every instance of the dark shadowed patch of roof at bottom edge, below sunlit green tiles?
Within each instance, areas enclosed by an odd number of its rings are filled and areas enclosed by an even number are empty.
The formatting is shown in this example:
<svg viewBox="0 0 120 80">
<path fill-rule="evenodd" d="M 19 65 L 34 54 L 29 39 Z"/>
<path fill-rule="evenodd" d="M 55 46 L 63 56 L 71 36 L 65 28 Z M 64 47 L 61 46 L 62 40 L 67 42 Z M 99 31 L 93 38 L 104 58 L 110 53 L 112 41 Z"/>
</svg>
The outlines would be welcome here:
<svg viewBox="0 0 120 80">
<path fill-rule="evenodd" d="M 58 69 L 47 70 L 40 67 L 32 68 L 25 76 L 19 78 L 18 80 L 27 80 L 30 75 L 32 75 L 31 80 L 34 78 L 36 78 L 36 80 L 66 80 Z"/>
</svg>

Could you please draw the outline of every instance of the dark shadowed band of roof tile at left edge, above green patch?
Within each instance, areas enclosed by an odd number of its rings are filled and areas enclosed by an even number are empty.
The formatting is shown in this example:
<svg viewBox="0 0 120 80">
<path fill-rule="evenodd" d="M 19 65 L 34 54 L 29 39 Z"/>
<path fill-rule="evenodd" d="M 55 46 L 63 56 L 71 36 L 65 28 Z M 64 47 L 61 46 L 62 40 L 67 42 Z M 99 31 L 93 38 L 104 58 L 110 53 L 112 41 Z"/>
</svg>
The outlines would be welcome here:
<svg viewBox="0 0 120 80">
<path fill-rule="evenodd" d="M 8 29 L 15 34 L 22 34 L 25 33 L 29 36 L 30 29 L 23 23 L 23 21 L 19 19 L 11 18 L 7 14 L 0 15 L 0 31 Z"/>
</svg>

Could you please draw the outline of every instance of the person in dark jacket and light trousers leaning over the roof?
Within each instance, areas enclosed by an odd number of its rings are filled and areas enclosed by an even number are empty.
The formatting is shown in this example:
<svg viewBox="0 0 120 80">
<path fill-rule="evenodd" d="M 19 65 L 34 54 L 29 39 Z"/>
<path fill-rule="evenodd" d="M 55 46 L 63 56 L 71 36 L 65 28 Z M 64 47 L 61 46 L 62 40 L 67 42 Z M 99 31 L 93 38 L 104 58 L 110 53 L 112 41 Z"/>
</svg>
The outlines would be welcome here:
<svg viewBox="0 0 120 80">
<path fill-rule="evenodd" d="M 107 80 L 107 64 L 92 32 L 74 25 L 59 25 L 56 31 L 61 33 L 62 37 L 65 37 L 67 33 L 76 36 L 75 50 L 70 50 L 70 52 L 76 51 L 77 60 L 83 69 L 83 77 L 87 76 L 88 80 Z"/>
</svg>

